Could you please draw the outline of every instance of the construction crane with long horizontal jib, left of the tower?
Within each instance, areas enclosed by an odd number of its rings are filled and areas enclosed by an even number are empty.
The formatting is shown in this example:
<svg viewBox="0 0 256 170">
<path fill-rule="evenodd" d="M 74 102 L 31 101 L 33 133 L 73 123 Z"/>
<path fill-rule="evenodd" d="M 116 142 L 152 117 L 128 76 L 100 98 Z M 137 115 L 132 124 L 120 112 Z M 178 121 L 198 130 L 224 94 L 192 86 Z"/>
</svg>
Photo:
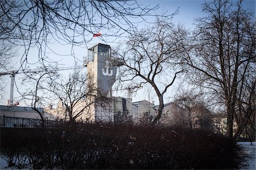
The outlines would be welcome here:
<svg viewBox="0 0 256 170">
<path fill-rule="evenodd" d="M 76 67 L 60 67 L 55 69 L 55 71 L 63 71 L 63 70 L 73 70 L 73 69 L 82 69 L 84 68 L 83 66 L 76 66 Z M 38 70 L 38 69 L 29 69 L 29 70 L 22 70 L 22 71 L 7 71 L 7 72 L 2 72 L 0 73 L 0 76 L 2 75 L 10 75 L 11 78 L 11 85 L 10 85 L 10 98 L 8 105 L 13 106 L 13 93 L 14 93 L 14 78 L 16 74 L 25 74 L 25 73 L 40 73 L 45 70 Z"/>
</svg>

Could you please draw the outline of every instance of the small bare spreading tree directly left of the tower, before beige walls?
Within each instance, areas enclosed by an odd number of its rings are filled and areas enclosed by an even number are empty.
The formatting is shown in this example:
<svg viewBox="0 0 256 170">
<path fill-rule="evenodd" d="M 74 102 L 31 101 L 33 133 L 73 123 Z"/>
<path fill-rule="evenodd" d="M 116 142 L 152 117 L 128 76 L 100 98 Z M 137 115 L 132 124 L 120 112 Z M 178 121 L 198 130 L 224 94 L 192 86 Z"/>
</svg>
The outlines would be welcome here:
<svg viewBox="0 0 256 170">
<path fill-rule="evenodd" d="M 47 90 L 52 94 L 53 100 L 59 100 L 63 105 L 65 120 L 74 122 L 82 114 L 87 113 L 93 104 L 108 104 L 108 99 L 100 94 L 93 84 L 88 83 L 88 76 L 81 69 L 73 70 L 65 79 L 63 76 L 52 81 L 48 81 Z"/>
</svg>

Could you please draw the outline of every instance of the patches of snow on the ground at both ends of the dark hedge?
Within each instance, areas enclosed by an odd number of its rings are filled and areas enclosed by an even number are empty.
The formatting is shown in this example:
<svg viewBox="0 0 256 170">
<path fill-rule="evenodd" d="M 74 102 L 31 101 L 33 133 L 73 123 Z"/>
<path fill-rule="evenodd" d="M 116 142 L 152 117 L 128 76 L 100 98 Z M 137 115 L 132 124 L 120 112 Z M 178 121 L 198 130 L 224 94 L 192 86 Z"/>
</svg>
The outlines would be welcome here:
<svg viewBox="0 0 256 170">
<path fill-rule="evenodd" d="M 243 151 L 248 155 L 247 161 L 246 161 L 246 167 L 241 168 L 241 170 L 255 170 L 255 161 L 256 161 L 256 142 L 253 142 L 253 145 L 251 145 L 250 142 L 238 142 L 239 145 L 242 146 Z M 7 167 L 6 160 L 3 158 L 3 155 L 0 155 L 0 169 L 16 169 L 15 167 Z M 31 169 L 25 168 L 25 169 Z"/>
</svg>

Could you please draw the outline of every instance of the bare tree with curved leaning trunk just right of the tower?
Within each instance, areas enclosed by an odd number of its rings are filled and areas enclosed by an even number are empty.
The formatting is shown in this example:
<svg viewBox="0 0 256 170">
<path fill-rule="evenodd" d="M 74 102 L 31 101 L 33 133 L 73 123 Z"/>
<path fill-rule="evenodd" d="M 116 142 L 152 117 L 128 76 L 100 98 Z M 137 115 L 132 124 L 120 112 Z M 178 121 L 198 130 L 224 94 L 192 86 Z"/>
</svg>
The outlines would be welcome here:
<svg viewBox="0 0 256 170">
<path fill-rule="evenodd" d="M 164 94 L 172 86 L 176 76 L 183 72 L 176 66 L 176 62 L 179 60 L 185 35 L 186 32 L 180 25 L 158 20 L 152 27 L 131 35 L 125 42 L 127 47 L 117 54 L 123 63 L 119 73 L 120 82 L 130 82 L 131 86 L 138 87 L 149 83 L 158 96 L 159 108 L 153 124 L 162 115 Z"/>
</svg>

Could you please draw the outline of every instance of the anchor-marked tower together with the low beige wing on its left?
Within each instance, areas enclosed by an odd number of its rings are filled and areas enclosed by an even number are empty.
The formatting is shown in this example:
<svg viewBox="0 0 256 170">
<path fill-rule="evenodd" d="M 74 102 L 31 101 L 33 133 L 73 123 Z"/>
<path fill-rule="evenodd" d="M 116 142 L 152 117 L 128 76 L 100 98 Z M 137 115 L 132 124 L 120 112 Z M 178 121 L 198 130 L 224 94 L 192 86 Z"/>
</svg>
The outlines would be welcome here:
<svg viewBox="0 0 256 170">
<path fill-rule="evenodd" d="M 83 65 L 87 69 L 86 99 L 72 106 L 72 117 L 82 122 L 113 122 L 114 98 L 112 86 L 117 74 L 117 64 L 111 57 L 111 48 L 106 44 L 96 44 L 88 48 Z M 69 121 L 67 106 L 61 102 L 57 108 L 46 108 L 48 113 Z"/>
</svg>

